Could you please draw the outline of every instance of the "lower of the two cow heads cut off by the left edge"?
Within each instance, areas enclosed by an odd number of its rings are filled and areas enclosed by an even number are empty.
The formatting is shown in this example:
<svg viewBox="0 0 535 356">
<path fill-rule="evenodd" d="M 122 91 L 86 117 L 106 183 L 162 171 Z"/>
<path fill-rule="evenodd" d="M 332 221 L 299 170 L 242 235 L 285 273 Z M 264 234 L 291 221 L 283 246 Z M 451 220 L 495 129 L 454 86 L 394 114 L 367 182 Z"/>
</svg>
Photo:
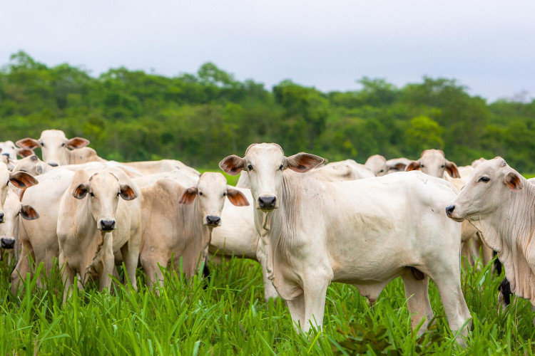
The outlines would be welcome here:
<svg viewBox="0 0 535 356">
<path fill-rule="evenodd" d="M 4 224 L 0 224 L 0 247 L 14 248 L 16 228 L 19 226 L 19 216 L 26 220 L 39 219 L 39 214 L 29 205 L 21 204 L 19 194 L 14 190 L 7 193 L 4 204 Z"/>
</svg>

